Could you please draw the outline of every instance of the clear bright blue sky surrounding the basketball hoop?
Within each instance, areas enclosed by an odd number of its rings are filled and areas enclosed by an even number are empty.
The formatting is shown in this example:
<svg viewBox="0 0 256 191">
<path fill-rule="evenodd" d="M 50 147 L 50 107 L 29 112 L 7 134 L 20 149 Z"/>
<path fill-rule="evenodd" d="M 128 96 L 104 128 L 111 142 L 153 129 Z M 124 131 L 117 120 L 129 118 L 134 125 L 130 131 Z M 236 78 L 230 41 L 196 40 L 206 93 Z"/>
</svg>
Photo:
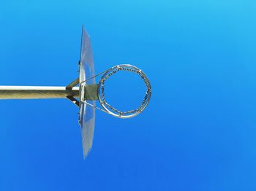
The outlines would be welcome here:
<svg viewBox="0 0 256 191">
<path fill-rule="evenodd" d="M 255 9 L 251 0 L 1 1 L 0 85 L 67 85 L 84 24 L 96 72 L 132 63 L 153 94 L 130 120 L 97 112 L 85 161 L 69 101 L 0 101 L 0 190 L 256 190 Z"/>
</svg>

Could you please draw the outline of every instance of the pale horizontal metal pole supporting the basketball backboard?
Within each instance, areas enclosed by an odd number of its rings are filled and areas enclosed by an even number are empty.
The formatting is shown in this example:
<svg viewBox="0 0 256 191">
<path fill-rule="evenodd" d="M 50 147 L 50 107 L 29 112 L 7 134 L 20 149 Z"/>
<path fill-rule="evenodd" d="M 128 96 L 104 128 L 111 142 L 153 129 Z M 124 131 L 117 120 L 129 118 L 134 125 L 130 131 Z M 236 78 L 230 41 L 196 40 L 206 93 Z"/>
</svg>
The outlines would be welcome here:
<svg viewBox="0 0 256 191">
<path fill-rule="evenodd" d="M 44 99 L 78 97 L 79 87 L 0 86 L 0 99 Z"/>
</svg>

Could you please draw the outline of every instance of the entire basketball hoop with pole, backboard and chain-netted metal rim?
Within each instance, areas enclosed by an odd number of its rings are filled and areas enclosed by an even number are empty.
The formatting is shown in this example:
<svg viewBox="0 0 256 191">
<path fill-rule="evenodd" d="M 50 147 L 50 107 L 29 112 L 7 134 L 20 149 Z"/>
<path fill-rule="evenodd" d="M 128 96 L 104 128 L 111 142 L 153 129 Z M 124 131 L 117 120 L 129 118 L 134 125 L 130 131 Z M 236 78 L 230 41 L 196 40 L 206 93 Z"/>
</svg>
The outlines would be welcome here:
<svg viewBox="0 0 256 191">
<path fill-rule="evenodd" d="M 109 104 L 105 98 L 105 82 L 119 71 L 128 71 L 138 74 L 146 85 L 146 95 L 141 104 L 131 110 L 121 111 Z M 102 75 L 99 82 L 95 82 L 96 77 Z M 85 28 L 82 29 L 79 77 L 67 86 L 0 86 L 1 99 L 41 99 L 41 98 L 67 98 L 78 106 L 78 122 L 81 128 L 83 157 L 85 158 L 91 150 L 94 138 L 95 109 L 113 115 L 118 118 L 130 118 L 140 114 L 151 98 L 151 85 L 140 69 L 129 64 L 121 64 L 95 75 L 94 59 L 91 49 L 91 40 Z M 96 106 L 97 101 L 101 107 Z"/>
</svg>

